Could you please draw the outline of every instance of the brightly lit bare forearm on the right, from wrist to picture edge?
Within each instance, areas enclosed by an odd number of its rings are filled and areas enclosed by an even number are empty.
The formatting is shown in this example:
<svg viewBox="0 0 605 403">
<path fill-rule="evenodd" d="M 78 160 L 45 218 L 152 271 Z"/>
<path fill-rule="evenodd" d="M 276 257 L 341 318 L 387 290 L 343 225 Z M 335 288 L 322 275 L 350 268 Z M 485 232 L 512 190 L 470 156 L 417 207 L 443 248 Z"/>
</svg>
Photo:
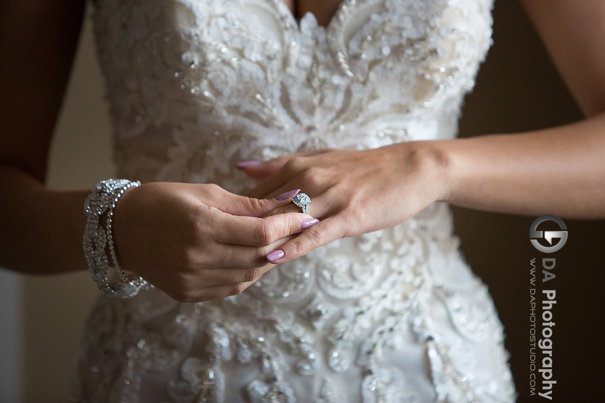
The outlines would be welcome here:
<svg viewBox="0 0 605 403">
<path fill-rule="evenodd" d="M 605 217 L 605 114 L 527 133 L 436 140 L 443 200 L 485 211 Z"/>
</svg>

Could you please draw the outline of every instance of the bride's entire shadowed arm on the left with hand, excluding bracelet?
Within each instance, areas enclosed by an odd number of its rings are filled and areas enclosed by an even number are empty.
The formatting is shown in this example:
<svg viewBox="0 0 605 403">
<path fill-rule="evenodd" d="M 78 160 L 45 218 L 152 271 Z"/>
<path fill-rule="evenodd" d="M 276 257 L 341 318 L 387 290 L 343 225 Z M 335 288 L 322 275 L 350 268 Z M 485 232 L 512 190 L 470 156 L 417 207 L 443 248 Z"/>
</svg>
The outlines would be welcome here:
<svg viewBox="0 0 605 403">
<path fill-rule="evenodd" d="M 0 3 L 0 54 L 8 56 L 0 65 L 0 266 L 9 269 L 52 274 L 87 267 L 83 203 L 90 189 L 44 186 L 82 9 L 67 0 Z M 120 264 L 178 301 L 240 293 L 273 267 L 270 251 L 310 224 L 299 212 L 261 218 L 287 203 L 211 184 L 144 183 L 114 209 Z"/>
</svg>

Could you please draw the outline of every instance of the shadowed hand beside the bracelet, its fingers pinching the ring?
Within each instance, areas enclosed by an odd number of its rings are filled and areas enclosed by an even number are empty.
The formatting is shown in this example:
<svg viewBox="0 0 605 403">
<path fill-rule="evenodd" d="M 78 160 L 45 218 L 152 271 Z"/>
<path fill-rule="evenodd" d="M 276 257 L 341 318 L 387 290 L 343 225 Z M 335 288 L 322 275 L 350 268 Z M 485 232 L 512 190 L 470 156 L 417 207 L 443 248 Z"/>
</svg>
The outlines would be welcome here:
<svg viewBox="0 0 605 403">
<path fill-rule="evenodd" d="M 297 212 L 260 218 L 289 202 L 239 196 L 217 185 L 132 187 L 114 208 L 118 261 L 177 301 L 238 294 L 274 266 L 266 255 L 312 218 Z"/>
</svg>

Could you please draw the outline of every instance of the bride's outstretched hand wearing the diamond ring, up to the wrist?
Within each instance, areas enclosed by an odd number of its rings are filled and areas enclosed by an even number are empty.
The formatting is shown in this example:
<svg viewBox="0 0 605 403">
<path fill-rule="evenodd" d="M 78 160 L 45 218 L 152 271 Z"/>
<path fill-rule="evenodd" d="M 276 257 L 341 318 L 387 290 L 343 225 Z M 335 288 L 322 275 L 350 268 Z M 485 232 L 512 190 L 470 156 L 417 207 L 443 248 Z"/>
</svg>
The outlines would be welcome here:
<svg viewBox="0 0 605 403">
<path fill-rule="evenodd" d="M 363 151 L 322 149 L 264 163 L 238 164 L 261 180 L 250 197 L 270 198 L 293 189 L 311 197 L 309 214 L 320 221 L 268 255 L 272 263 L 301 257 L 338 238 L 399 224 L 436 200 L 445 200 L 447 162 L 433 141 L 397 143 Z M 293 203 L 270 213 L 299 211 Z M 280 257 L 281 256 L 281 257 Z"/>
</svg>

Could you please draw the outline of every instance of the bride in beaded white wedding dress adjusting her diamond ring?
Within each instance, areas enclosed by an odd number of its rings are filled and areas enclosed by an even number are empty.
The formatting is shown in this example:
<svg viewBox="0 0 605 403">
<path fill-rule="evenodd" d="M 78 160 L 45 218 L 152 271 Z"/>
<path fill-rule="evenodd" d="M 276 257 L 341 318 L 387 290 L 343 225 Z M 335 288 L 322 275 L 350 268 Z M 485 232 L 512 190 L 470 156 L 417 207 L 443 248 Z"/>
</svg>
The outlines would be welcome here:
<svg viewBox="0 0 605 403">
<path fill-rule="evenodd" d="M 604 216 L 605 5 L 523 1 L 585 120 L 456 139 L 490 0 L 97 0 L 128 180 L 53 192 L 80 11 L 39 3 L 3 7 L 49 56 L 2 74 L 0 264 L 99 284 L 73 401 L 514 401 L 448 204 Z"/>
</svg>

